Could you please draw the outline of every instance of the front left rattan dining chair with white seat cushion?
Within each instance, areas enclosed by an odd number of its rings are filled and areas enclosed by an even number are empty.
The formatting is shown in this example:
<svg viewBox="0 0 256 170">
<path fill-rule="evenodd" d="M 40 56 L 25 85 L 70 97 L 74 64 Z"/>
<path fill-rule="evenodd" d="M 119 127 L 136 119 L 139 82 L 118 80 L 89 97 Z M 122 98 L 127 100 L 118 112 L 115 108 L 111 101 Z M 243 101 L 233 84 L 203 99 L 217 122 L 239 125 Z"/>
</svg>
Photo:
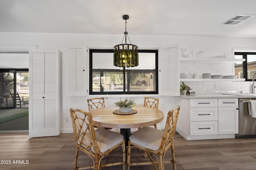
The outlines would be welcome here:
<svg viewBox="0 0 256 170">
<path fill-rule="evenodd" d="M 92 114 L 80 109 L 70 108 L 74 140 L 76 143 L 76 154 L 74 160 L 74 170 L 90 169 L 99 170 L 100 167 L 123 165 L 125 170 L 126 152 L 123 135 L 106 129 L 95 129 L 92 121 Z M 122 147 L 123 160 L 101 164 L 104 156 L 112 150 Z M 78 152 L 82 151 L 92 158 L 93 166 L 77 167 Z"/>
</svg>

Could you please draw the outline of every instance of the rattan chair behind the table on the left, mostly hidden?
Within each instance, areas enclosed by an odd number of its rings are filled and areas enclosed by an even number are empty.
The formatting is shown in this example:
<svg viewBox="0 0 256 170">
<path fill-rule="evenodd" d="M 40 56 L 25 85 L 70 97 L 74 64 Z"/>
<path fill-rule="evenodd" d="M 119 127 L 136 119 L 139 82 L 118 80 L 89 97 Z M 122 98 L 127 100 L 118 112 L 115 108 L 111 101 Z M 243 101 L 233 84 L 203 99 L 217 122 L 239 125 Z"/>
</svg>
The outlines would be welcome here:
<svg viewBox="0 0 256 170">
<path fill-rule="evenodd" d="M 92 98 L 92 99 L 87 100 L 87 104 L 88 104 L 88 110 L 90 112 L 94 109 L 105 107 L 105 100 L 104 100 L 104 98 Z M 101 129 L 107 129 L 107 130 L 112 129 L 112 128 L 100 127 L 100 126 L 96 126 L 96 125 L 94 125 L 94 127 L 101 128 Z"/>
</svg>

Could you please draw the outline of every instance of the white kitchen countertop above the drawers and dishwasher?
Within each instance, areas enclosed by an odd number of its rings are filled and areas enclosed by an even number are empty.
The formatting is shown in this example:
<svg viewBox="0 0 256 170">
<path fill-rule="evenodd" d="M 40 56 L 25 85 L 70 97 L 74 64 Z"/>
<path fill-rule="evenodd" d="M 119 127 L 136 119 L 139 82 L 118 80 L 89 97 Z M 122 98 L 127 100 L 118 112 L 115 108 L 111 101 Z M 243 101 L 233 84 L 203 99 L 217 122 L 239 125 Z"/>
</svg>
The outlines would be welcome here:
<svg viewBox="0 0 256 170">
<path fill-rule="evenodd" d="M 228 94 L 196 94 L 196 96 L 186 96 L 186 95 L 180 95 L 181 98 L 186 98 L 186 99 L 207 99 L 207 98 L 256 98 L 256 96 L 234 96 L 234 95 L 228 95 Z"/>
</svg>

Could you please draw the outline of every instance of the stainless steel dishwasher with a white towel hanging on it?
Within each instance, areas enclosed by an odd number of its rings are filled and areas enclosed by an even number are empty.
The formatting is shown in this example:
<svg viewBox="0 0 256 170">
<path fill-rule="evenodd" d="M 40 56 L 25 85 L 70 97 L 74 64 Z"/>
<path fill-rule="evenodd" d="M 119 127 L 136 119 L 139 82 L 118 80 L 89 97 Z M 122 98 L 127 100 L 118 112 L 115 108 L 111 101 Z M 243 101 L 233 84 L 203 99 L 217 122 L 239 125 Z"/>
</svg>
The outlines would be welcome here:
<svg viewBox="0 0 256 170">
<path fill-rule="evenodd" d="M 248 102 L 256 98 L 239 99 L 239 134 L 235 137 L 256 137 L 256 118 L 248 113 Z"/>
</svg>

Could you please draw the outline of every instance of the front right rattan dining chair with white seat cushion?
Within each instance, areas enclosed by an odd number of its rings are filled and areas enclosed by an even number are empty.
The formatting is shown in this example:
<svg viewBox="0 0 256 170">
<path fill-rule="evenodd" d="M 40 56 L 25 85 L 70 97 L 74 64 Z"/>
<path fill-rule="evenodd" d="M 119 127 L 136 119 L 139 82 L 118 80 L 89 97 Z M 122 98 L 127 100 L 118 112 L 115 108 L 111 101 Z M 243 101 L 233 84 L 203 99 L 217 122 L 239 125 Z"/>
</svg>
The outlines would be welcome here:
<svg viewBox="0 0 256 170">
<path fill-rule="evenodd" d="M 152 164 L 156 170 L 164 170 L 164 163 L 172 163 L 173 169 L 176 170 L 174 135 L 179 111 L 180 106 L 176 106 L 172 110 L 168 111 L 164 131 L 155 129 L 153 127 L 143 127 L 130 136 L 130 141 L 128 141 L 128 170 L 130 170 L 130 166 L 147 164 Z M 134 147 L 145 150 L 148 154 L 150 162 L 130 163 L 131 149 Z M 172 152 L 172 160 L 164 161 L 164 156 L 170 147 Z M 151 154 L 154 156 L 152 157 Z M 156 164 L 158 164 L 159 169 L 157 168 Z"/>
</svg>

